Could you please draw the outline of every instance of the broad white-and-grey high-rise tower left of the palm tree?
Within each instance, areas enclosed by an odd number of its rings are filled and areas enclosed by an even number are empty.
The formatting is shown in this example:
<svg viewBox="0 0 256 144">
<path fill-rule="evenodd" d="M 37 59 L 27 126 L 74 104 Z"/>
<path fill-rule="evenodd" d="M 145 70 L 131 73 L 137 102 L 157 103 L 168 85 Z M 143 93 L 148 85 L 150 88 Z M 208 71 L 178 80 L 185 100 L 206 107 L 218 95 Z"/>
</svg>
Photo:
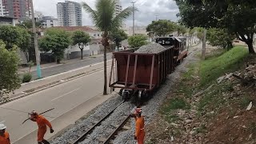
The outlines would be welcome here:
<svg viewBox="0 0 256 144">
<path fill-rule="evenodd" d="M 59 26 L 82 26 L 82 6 L 78 2 L 58 2 Z"/>
</svg>

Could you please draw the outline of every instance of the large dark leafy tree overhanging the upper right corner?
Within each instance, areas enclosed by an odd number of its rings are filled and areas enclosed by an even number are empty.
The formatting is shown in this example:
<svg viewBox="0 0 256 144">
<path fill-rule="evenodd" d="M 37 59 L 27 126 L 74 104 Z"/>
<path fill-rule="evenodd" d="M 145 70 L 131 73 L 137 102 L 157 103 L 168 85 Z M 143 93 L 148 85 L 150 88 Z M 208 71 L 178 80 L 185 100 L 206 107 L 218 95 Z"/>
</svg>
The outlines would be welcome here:
<svg viewBox="0 0 256 144">
<path fill-rule="evenodd" d="M 186 26 L 226 29 L 246 42 L 250 54 L 255 54 L 252 42 L 256 32 L 256 1 L 175 1 L 180 10 L 178 16 Z"/>
</svg>

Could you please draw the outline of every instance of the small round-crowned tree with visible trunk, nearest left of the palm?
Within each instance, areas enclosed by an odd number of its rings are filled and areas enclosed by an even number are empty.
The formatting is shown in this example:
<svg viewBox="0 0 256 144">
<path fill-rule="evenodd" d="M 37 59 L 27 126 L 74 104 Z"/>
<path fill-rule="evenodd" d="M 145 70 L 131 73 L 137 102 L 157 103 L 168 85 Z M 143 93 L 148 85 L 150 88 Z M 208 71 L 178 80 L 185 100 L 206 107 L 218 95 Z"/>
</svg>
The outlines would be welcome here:
<svg viewBox="0 0 256 144">
<path fill-rule="evenodd" d="M 85 33 L 84 31 L 77 30 L 74 32 L 72 36 L 73 45 L 78 45 L 79 49 L 81 50 L 81 59 L 83 58 L 83 49 L 87 46 L 90 42 L 90 35 Z"/>
</svg>

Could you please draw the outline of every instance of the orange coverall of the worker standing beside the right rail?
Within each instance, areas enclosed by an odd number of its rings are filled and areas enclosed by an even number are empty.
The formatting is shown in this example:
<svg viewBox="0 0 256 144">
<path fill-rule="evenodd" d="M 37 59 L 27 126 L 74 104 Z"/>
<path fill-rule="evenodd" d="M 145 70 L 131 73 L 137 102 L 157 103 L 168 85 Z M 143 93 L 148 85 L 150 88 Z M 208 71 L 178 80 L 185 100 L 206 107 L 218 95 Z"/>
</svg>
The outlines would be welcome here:
<svg viewBox="0 0 256 144">
<path fill-rule="evenodd" d="M 144 118 L 136 117 L 136 126 L 135 126 L 135 137 L 137 137 L 138 144 L 144 143 L 145 131 L 144 131 Z"/>
</svg>

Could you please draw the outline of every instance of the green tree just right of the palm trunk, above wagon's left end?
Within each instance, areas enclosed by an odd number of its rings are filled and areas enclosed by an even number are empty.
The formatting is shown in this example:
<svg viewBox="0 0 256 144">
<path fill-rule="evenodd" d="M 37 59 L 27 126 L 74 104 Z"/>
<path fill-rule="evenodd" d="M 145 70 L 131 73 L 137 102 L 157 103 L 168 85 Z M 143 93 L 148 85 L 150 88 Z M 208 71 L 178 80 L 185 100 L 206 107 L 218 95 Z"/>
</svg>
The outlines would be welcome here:
<svg viewBox="0 0 256 144">
<path fill-rule="evenodd" d="M 121 42 L 128 38 L 128 35 L 124 30 L 114 30 L 110 32 L 110 39 L 115 42 L 118 48 L 121 46 Z"/>
</svg>

